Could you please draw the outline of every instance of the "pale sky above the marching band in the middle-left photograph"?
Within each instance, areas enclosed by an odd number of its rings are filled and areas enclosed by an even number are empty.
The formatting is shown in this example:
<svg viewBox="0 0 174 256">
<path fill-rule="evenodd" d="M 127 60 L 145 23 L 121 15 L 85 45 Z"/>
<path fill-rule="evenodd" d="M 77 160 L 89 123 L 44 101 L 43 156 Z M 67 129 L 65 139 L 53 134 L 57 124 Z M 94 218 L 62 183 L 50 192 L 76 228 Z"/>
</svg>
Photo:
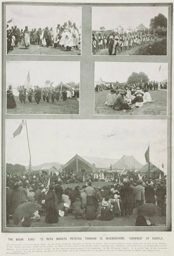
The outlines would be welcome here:
<svg viewBox="0 0 174 256">
<path fill-rule="evenodd" d="M 53 87 L 62 83 L 80 82 L 80 61 L 7 61 L 6 88 L 24 84 L 30 72 L 32 87 L 44 86 L 46 80 L 54 82 Z"/>
</svg>

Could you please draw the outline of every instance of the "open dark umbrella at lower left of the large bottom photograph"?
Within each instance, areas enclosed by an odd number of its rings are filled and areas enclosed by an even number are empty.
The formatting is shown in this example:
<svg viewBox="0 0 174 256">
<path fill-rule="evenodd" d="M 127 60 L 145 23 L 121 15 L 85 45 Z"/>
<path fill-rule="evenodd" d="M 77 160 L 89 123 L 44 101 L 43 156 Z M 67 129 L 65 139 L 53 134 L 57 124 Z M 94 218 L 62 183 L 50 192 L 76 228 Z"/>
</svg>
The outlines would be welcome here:
<svg viewBox="0 0 174 256">
<path fill-rule="evenodd" d="M 34 212 L 38 210 L 42 210 L 42 205 L 36 202 L 26 202 L 16 208 L 14 217 L 22 219 L 24 216 L 33 216 Z"/>
</svg>

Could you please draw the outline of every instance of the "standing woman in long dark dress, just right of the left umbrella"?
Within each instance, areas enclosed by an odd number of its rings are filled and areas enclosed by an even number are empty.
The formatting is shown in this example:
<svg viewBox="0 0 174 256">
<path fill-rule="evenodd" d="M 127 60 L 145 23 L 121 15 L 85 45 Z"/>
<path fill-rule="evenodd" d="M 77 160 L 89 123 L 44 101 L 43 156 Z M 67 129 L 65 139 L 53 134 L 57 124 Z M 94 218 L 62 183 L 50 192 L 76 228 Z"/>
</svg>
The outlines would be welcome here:
<svg viewBox="0 0 174 256">
<path fill-rule="evenodd" d="M 53 186 L 49 186 L 49 191 L 45 198 L 45 222 L 57 223 L 59 221 L 59 209 L 56 193 L 53 191 Z"/>
</svg>

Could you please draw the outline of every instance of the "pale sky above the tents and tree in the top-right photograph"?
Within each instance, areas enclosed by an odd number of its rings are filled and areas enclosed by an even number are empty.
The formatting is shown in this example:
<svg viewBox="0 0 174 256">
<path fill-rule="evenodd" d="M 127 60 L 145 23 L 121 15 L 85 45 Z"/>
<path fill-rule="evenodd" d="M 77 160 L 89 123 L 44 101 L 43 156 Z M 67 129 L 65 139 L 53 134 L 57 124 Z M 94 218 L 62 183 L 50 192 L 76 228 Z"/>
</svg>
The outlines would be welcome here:
<svg viewBox="0 0 174 256">
<path fill-rule="evenodd" d="M 141 23 L 149 27 L 150 19 L 162 13 L 168 18 L 168 7 L 92 7 L 92 29 L 115 29 L 119 25 L 124 29 L 129 26 L 133 29 Z"/>
</svg>

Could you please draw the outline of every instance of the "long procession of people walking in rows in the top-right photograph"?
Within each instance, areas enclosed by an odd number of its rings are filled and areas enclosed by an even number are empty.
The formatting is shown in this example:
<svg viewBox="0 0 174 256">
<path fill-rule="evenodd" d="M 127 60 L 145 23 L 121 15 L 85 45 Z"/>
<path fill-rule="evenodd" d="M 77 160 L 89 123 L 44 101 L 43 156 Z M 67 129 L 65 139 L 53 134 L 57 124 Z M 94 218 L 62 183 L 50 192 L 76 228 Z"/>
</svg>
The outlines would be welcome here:
<svg viewBox="0 0 174 256">
<path fill-rule="evenodd" d="M 159 35 L 155 31 L 150 30 L 137 30 L 137 32 L 128 33 L 111 33 L 109 35 L 101 33 L 96 36 L 92 33 L 92 47 L 96 51 L 96 46 L 98 44 L 98 50 L 106 49 L 109 50 L 109 55 L 117 55 L 118 52 L 123 53 L 125 51 L 132 50 L 135 47 L 141 45 L 152 44 L 157 41 Z M 163 38 L 167 38 L 167 30 L 162 33 Z"/>
</svg>

